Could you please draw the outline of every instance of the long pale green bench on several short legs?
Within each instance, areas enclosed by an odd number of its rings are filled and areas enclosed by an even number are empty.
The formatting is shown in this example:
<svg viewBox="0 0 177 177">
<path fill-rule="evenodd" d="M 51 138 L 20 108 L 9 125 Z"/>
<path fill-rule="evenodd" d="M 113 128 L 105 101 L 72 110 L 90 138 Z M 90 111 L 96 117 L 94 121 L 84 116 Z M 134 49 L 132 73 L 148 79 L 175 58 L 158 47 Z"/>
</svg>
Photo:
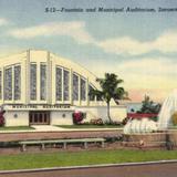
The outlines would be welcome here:
<svg viewBox="0 0 177 177">
<path fill-rule="evenodd" d="M 101 143 L 104 147 L 104 138 L 77 138 L 77 139 L 53 139 L 53 140 L 22 140 L 19 145 L 22 146 L 22 152 L 27 150 L 27 145 L 41 145 L 41 149 L 45 148 L 46 144 L 63 144 L 63 148 L 66 149 L 67 144 L 82 143 L 84 148 L 87 148 L 88 143 Z"/>
</svg>

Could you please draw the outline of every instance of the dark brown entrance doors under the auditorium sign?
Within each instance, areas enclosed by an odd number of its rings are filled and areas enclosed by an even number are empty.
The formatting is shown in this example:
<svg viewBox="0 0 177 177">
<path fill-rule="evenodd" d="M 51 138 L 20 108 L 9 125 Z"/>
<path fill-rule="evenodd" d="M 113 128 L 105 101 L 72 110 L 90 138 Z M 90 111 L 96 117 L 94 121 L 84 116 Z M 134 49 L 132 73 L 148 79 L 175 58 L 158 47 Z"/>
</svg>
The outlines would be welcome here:
<svg viewBox="0 0 177 177">
<path fill-rule="evenodd" d="M 49 125 L 50 112 L 48 111 L 32 111 L 29 113 L 30 125 Z"/>
</svg>

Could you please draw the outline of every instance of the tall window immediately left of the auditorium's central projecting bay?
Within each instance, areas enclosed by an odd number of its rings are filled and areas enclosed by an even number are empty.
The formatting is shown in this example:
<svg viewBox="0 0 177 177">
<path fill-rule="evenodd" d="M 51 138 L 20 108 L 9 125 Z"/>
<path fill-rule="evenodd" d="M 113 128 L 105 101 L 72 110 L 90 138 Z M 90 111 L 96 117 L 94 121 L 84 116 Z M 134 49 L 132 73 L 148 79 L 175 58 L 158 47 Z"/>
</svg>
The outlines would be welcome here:
<svg viewBox="0 0 177 177">
<path fill-rule="evenodd" d="M 14 100 L 21 98 L 21 66 L 14 66 Z"/>
</svg>

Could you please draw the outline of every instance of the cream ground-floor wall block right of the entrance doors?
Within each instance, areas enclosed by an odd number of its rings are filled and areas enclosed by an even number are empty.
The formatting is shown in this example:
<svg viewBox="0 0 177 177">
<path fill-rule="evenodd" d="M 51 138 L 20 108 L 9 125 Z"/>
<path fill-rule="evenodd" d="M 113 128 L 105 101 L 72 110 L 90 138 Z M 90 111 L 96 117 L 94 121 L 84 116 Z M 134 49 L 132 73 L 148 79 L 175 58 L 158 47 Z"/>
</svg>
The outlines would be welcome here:
<svg viewBox="0 0 177 177">
<path fill-rule="evenodd" d="M 52 111 L 51 112 L 51 125 L 73 125 L 72 118 L 73 111 Z"/>
</svg>

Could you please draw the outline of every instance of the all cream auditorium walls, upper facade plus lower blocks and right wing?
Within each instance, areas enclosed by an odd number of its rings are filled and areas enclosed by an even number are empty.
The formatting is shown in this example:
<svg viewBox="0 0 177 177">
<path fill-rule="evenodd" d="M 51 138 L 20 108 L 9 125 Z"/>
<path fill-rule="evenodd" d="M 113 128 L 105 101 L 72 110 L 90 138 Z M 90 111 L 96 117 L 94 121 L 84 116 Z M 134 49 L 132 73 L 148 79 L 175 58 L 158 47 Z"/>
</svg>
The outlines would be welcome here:
<svg viewBox="0 0 177 177">
<path fill-rule="evenodd" d="M 30 64 L 37 64 L 37 100 L 30 98 Z M 46 65 L 46 98 L 41 100 L 41 64 Z M 14 66 L 21 66 L 21 97 L 20 100 L 14 101 Z M 12 69 L 12 98 L 4 100 L 4 71 L 6 69 Z M 64 86 L 63 86 L 63 77 L 62 77 L 62 100 L 56 101 L 56 67 L 62 69 L 62 73 L 67 70 L 70 73 L 69 76 L 69 100 L 63 100 L 64 94 Z M 80 64 L 75 64 L 69 60 L 65 60 L 61 56 L 56 56 L 48 51 L 38 51 L 38 50 L 28 50 L 23 53 L 11 55 L 4 58 L 0 61 L 0 71 L 1 71 L 1 80 L 0 80 L 0 90 L 1 90 L 1 98 L 0 105 L 56 105 L 56 104 L 69 104 L 71 106 L 75 106 L 79 110 L 87 112 L 87 119 L 91 118 L 103 118 L 104 121 L 107 119 L 106 113 L 106 104 L 105 102 L 98 102 L 95 100 L 90 100 L 88 97 L 88 87 L 92 85 L 94 88 L 100 90 L 100 85 L 96 82 L 96 76 L 85 70 L 84 67 L 80 66 Z M 73 73 L 79 76 L 79 98 L 73 101 Z M 85 100 L 81 97 L 81 82 L 85 81 Z M 8 83 L 8 82 L 7 82 Z M 83 87 L 82 87 L 83 88 Z M 9 90 L 9 88 L 8 88 Z M 31 88 L 32 91 L 32 88 Z M 82 92 L 83 93 L 83 92 Z M 49 110 L 50 111 L 50 110 Z M 22 126 L 29 125 L 29 110 L 25 111 L 17 111 L 17 110 L 7 110 L 6 113 L 6 126 Z M 72 112 L 71 111 L 51 111 L 51 124 L 52 125 L 71 125 L 72 122 Z M 15 117 L 14 115 L 18 114 Z M 65 114 L 65 117 L 63 117 Z M 126 107 L 125 106 L 117 106 L 115 103 L 111 104 L 111 116 L 113 121 L 122 121 L 126 117 Z"/>
</svg>

